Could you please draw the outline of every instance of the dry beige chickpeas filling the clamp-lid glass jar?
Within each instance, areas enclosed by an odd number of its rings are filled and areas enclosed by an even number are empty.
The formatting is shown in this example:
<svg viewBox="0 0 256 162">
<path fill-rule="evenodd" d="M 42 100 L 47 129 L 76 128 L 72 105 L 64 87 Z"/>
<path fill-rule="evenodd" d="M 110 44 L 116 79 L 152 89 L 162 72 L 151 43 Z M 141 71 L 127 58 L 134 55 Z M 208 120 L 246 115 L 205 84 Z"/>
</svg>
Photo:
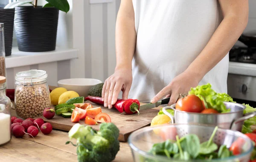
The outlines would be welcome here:
<svg viewBox="0 0 256 162">
<path fill-rule="evenodd" d="M 16 113 L 23 119 L 43 115 L 50 106 L 49 90 L 46 85 L 18 87 L 15 92 Z"/>
</svg>

